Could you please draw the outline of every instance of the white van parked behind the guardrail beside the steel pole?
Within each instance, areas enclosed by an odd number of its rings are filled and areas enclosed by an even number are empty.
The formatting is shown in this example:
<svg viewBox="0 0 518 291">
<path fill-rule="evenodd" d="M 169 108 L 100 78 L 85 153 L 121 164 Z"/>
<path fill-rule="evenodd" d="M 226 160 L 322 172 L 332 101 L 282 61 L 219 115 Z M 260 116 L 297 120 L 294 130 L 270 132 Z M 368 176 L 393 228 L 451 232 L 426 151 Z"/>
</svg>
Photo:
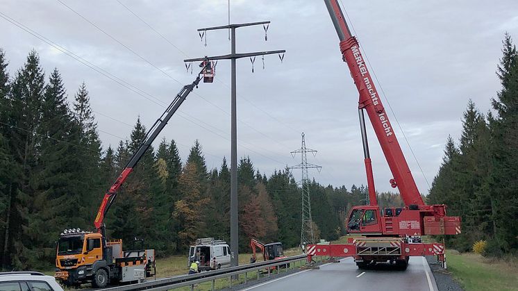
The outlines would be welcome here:
<svg viewBox="0 0 518 291">
<path fill-rule="evenodd" d="M 187 267 L 196 261 L 199 261 L 199 272 L 230 267 L 231 248 L 223 240 L 199 238 L 189 249 Z"/>
</svg>

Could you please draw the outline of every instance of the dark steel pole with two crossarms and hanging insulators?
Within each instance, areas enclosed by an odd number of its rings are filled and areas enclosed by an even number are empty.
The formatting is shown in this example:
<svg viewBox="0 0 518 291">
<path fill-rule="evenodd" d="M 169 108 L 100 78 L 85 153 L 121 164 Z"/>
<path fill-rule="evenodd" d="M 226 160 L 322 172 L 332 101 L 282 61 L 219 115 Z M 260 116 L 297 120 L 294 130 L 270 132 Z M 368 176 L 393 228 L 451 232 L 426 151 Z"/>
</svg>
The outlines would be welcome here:
<svg viewBox="0 0 518 291">
<path fill-rule="evenodd" d="M 285 50 L 279 51 L 257 51 L 253 53 L 236 53 L 235 52 L 235 28 L 243 26 L 265 25 L 270 22 L 250 22 L 242 24 L 228 24 L 224 26 L 214 26 L 207 28 L 199 28 L 201 35 L 206 35 L 207 31 L 215 31 L 219 29 L 230 29 L 231 31 L 231 53 L 223 56 L 205 56 L 203 58 L 191 58 L 183 60 L 187 62 L 208 60 L 231 60 L 231 266 L 239 265 L 238 260 L 238 223 L 237 223 L 237 115 L 236 115 L 236 90 L 235 90 L 235 60 L 238 58 L 251 58 L 255 56 L 265 56 L 272 53 L 285 53 Z M 265 27 L 265 33 L 267 26 Z M 266 38 L 265 38 L 266 39 Z"/>
</svg>

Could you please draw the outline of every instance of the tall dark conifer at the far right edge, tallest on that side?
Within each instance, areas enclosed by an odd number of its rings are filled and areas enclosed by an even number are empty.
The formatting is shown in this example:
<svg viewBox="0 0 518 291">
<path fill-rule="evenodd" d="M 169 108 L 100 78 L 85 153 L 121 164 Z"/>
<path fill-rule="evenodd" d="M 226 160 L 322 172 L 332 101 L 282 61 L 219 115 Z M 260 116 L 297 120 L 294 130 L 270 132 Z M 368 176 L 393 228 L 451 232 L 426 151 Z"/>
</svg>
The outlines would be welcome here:
<svg viewBox="0 0 518 291">
<path fill-rule="evenodd" d="M 494 209 L 494 238 L 490 247 L 495 256 L 518 249 L 515 239 L 518 226 L 509 217 L 518 215 L 518 52 L 506 33 L 503 56 L 496 74 L 502 89 L 497 92 L 492 106 L 496 110 L 492 127 L 493 170 L 490 178 Z"/>
</svg>

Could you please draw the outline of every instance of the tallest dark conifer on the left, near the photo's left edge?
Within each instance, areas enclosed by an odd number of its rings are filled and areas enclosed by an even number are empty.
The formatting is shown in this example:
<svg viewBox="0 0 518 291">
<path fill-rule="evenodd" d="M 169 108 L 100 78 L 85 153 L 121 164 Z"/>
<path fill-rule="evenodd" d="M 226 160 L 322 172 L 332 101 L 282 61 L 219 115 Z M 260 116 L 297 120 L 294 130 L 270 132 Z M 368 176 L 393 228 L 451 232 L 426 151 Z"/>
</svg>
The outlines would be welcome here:
<svg viewBox="0 0 518 291">
<path fill-rule="evenodd" d="M 24 67 L 12 81 L 8 124 L 17 130 L 8 131 L 6 135 L 15 163 L 21 169 L 11 192 L 15 197 L 11 199 L 12 211 L 8 226 L 8 236 L 17 238 L 8 246 L 10 264 L 20 269 L 41 265 L 41 261 L 31 254 L 35 253 L 33 249 L 36 248 L 32 238 L 42 229 L 33 229 L 31 225 L 42 219 L 34 207 L 36 192 L 33 182 L 37 173 L 37 149 L 41 142 L 41 135 L 37 131 L 41 124 L 43 95 L 44 73 L 40 67 L 40 57 L 31 51 Z"/>
</svg>

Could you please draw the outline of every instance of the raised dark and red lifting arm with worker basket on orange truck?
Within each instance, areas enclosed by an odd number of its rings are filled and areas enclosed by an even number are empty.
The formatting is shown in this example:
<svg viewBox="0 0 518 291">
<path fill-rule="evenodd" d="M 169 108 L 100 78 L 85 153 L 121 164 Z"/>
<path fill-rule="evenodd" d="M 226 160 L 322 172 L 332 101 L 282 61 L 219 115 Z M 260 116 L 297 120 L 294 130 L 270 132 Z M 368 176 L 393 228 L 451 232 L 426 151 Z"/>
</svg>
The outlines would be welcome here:
<svg viewBox="0 0 518 291">
<path fill-rule="evenodd" d="M 169 104 L 165 112 L 162 113 L 162 116 L 160 116 L 160 118 L 156 120 L 153 126 L 151 126 L 149 131 L 146 133 L 146 136 L 144 137 L 144 142 L 142 142 L 142 144 L 140 144 L 139 149 L 135 153 L 133 153 L 131 160 L 129 160 L 129 162 L 126 164 L 126 167 L 124 167 L 121 174 L 119 174 L 113 185 L 104 195 L 103 201 L 101 202 L 101 206 L 99 206 L 99 210 L 97 212 L 97 217 L 95 217 L 94 221 L 94 226 L 96 230 L 102 233 L 104 238 L 106 238 L 106 233 L 104 229 L 105 225 L 103 223 L 104 217 L 106 213 L 108 213 L 108 210 L 110 209 L 110 206 L 112 205 L 113 201 L 115 201 L 119 188 L 126 181 L 128 175 L 133 171 L 137 163 L 140 161 L 140 158 L 144 156 L 144 153 L 146 153 L 153 141 L 160 134 L 160 131 L 162 131 L 167 122 L 169 122 L 169 119 L 171 119 L 174 113 L 176 113 L 176 110 L 178 110 L 183 101 L 185 101 L 187 95 L 189 95 L 190 92 L 194 90 L 194 88 L 198 87 L 198 84 L 201 81 L 200 76 L 202 74 L 207 74 L 207 72 L 210 72 L 210 74 L 212 74 L 213 67 L 208 60 L 204 60 L 203 63 L 201 63 L 200 67 L 202 67 L 202 69 L 201 72 L 199 72 L 196 80 L 194 80 L 189 85 L 183 86 L 182 90 L 180 90 L 180 92 L 176 94 L 174 100 L 171 102 L 171 104 Z"/>
</svg>

